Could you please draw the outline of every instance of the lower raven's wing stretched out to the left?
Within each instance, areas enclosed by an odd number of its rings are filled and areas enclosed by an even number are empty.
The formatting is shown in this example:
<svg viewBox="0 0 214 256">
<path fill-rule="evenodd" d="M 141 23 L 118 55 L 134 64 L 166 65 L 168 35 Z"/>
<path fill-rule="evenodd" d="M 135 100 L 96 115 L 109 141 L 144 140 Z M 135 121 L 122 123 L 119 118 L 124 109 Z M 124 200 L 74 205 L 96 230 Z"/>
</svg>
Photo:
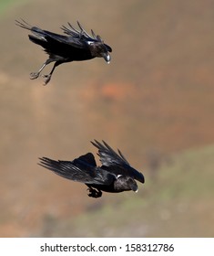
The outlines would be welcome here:
<svg viewBox="0 0 214 256">
<path fill-rule="evenodd" d="M 88 185 L 109 185 L 116 179 L 114 175 L 109 174 L 106 170 L 97 169 L 96 166 L 90 165 L 89 162 L 85 163 L 82 156 L 79 158 L 74 161 L 56 161 L 41 157 L 38 165 L 51 170 L 58 176 Z"/>
</svg>

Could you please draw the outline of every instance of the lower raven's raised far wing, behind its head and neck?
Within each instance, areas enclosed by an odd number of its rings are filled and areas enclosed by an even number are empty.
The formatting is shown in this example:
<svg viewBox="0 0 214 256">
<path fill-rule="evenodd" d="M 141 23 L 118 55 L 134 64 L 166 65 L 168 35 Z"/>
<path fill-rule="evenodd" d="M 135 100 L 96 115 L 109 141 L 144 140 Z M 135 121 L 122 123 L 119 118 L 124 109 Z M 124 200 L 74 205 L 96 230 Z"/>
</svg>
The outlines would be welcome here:
<svg viewBox="0 0 214 256">
<path fill-rule="evenodd" d="M 127 159 L 119 150 L 117 154 L 104 141 L 103 144 L 97 142 L 97 140 L 91 143 L 98 149 L 97 155 L 100 157 L 102 168 L 107 169 L 107 171 L 112 174 L 130 176 L 137 179 L 139 182 L 144 183 L 144 176 L 129 165 Z"/>
</svg>

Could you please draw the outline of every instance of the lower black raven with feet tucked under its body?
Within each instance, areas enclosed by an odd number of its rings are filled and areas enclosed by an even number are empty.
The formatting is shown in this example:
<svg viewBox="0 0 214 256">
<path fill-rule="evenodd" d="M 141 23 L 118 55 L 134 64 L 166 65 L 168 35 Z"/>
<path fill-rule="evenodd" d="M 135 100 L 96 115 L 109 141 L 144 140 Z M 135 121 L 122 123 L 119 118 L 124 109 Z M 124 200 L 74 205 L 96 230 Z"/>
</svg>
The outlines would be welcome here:
<svg viewBox="0 0 214 256">
<path fill-rule="evenodd" d="M 144 176 L 132 168 L 124 155 L 118 154 L 103 141 L 103 144 L 91 142 L 98 149 L 101 166 L 97 166 L 91 153 L 81 155 L 73 161 L 52 160 L 47 157 L 39 158 L 41 165 L 58 176 L 85 183 L 89 197 L 101 197 L 102 191 L 118 193 L 128 190 L 138 192 L 136 180 L 144 183 Z"/>
</svg>

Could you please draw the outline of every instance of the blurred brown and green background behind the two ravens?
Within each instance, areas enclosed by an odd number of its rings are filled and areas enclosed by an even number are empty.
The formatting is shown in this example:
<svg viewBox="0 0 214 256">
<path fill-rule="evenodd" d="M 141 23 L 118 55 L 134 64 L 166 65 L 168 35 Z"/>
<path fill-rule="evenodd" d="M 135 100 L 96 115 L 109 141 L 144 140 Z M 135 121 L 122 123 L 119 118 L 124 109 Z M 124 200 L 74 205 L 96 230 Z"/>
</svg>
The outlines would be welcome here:
<svg viewBox="0 0 214 256">
<path fill-rule="evenodd" d="M 0 236 L 214 236 L 214 1 L 0 1 Z M 80 21 L 113 48 L 29 80 L 46 60 L 15 19 Z M 47 73 L 51 69 L 45 69 Z M 105 140 L 146 176 L 138 194 L 87 197 L 37 165 Z M 97 158 L 97 164 L 98 158 Z"/>
</svg>

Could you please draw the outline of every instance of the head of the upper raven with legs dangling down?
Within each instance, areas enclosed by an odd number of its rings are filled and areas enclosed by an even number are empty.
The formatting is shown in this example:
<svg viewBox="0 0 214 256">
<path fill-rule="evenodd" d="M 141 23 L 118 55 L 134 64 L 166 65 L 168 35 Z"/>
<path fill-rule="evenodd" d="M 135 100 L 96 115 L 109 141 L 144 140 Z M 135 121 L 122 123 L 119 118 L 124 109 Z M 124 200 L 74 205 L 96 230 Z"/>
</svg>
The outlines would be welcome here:
<svg viewBox="0 0 214 256">
<path fill-rule="evenodd" d="M 93 57 L 104 58 L 107 61 L 107 64 L 109 64 L 111 60 L 109 52 L 111 52 L 112 49 L 104 44 L 104 41 L 101 37 L 97 36 L 96 38 L 96 41 L 87 42 L 90 48 L 91 55 Z"/>
</svg>

